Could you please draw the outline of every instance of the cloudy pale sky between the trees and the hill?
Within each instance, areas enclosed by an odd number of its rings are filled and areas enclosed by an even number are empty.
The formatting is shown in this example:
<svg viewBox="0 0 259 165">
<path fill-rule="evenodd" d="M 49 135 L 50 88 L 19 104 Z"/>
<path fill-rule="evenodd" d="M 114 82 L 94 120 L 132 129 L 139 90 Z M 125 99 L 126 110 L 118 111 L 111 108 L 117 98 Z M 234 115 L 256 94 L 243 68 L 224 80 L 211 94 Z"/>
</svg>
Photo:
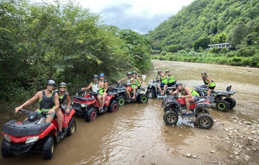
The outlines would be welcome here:
<svg viewBox="0 0 259 165">
<path fill-rule="evenodd" d="M 77 0 L 82 7 L 102 13 L 104 24 L 140 34 L 154 30 L 194 0 Z"/>
</svg>

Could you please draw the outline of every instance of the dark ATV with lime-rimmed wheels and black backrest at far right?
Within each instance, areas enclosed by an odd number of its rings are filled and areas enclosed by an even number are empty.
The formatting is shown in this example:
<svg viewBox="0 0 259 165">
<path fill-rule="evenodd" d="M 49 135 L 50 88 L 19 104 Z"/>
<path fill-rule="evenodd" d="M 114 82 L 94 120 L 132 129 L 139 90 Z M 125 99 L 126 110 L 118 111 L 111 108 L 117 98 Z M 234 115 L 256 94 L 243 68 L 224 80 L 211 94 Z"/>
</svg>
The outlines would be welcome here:
<svg viewBox="0 0 259 165">
<path fill-rule="evenodd" d="M 195 86 L 193 89 L 199 93 L 201 97 L 207 97 L 210 103 L 216 103 L 216 109 L 226 112 L 228 109 L 233 109 L 236 106 L 236 101 L 231 98 L 237 91 L 230 90 L 231 85 L 227 86 L 226 91 L 211 91 L 210 96 L 207 95 L 208 87 L 205 85 Z"/>
</svg>

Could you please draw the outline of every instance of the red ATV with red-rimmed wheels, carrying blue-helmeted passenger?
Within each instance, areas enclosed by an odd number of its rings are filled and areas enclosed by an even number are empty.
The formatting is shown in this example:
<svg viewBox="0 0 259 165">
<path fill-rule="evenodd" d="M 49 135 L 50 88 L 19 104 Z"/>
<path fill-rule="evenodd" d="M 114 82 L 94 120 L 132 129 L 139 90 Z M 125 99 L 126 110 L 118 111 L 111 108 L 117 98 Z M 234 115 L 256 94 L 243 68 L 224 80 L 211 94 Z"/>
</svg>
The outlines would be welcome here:
<svg viewBox="0 0 259 165">
<path fill-rule="evenodd" d="M 103 113 L 106 111 L 115 112 L 118 111 L 119 105 L 116 100 L 112 100 L 115 95 L 112 92 L 108 92 L 108 95 L 105 97 L 104 111 L 99 111 L 99 104 L 97 100 L 97 92 L 86 93 L 85 90 L 80 90 L 79 92 L 84 92 L 83 95 L 74 95 L 71 96 L 74 98 L 71 101 L 76 115 L 80 117 L 85 117 L 85 121 L 91 122 L 96 119 L 98 113 Z"/>
</svg>

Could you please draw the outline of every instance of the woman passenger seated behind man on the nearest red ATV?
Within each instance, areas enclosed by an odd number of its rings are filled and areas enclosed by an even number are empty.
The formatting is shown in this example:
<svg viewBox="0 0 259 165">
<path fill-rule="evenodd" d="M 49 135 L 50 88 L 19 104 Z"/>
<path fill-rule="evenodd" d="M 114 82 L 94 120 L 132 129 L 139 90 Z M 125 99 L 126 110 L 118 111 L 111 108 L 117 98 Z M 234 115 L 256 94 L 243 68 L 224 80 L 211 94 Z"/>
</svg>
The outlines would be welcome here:
<svg viewBox="0 0 259 165">
<path fill-rule="evenodd" d="M 67 84 L 66 83 L 64 83 L 64 82 L 59 83 L 58 88 L 59 89 L 55 90 L 55 92 L 58 94 L 58 99 L 59 99 L 59 109 L 56 111 L 56 116 L 61 115 L 61 118 L 60 117 L 57 118 L 58 132 L 59 132 L 58 137 L 63 138 L 63 133 L 61 133 L 62 132 L 62 111 L 61 111 L 61 107 L 62 107 L 62 103 L 66 99 L 67 100 L 67 108 L 65 109 L 65 114 L 69 113 L 70 97 L 69 97 L 69 93 L 67 93 L 67 89 L 66 89 Z"/>
</svg>

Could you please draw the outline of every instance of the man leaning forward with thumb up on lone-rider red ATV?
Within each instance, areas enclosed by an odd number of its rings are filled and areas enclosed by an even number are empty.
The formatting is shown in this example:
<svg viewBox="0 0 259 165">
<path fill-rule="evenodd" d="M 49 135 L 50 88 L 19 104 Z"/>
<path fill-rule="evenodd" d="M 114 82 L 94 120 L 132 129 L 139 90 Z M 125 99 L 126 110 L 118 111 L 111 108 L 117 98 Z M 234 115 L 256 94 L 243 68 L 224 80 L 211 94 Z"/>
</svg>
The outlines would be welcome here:
<svg viewBox="0 0 259 165">
<path fill-rule="evenodd" d="M 180 98 L 185 98 L 185 104 L 186 104 L 186 113 L 182 116 L 190 116 L 190 102 L 195 102 L 199 100 L 199 94 L 188 87 L 182 87 L 182 83 L 178 82 L 175 84 L 177 90 L 172 92 L 169 91 L 170 95 L 175 95 L 180 93 L 182 96 L 179 96 Z"/>
</svg>

